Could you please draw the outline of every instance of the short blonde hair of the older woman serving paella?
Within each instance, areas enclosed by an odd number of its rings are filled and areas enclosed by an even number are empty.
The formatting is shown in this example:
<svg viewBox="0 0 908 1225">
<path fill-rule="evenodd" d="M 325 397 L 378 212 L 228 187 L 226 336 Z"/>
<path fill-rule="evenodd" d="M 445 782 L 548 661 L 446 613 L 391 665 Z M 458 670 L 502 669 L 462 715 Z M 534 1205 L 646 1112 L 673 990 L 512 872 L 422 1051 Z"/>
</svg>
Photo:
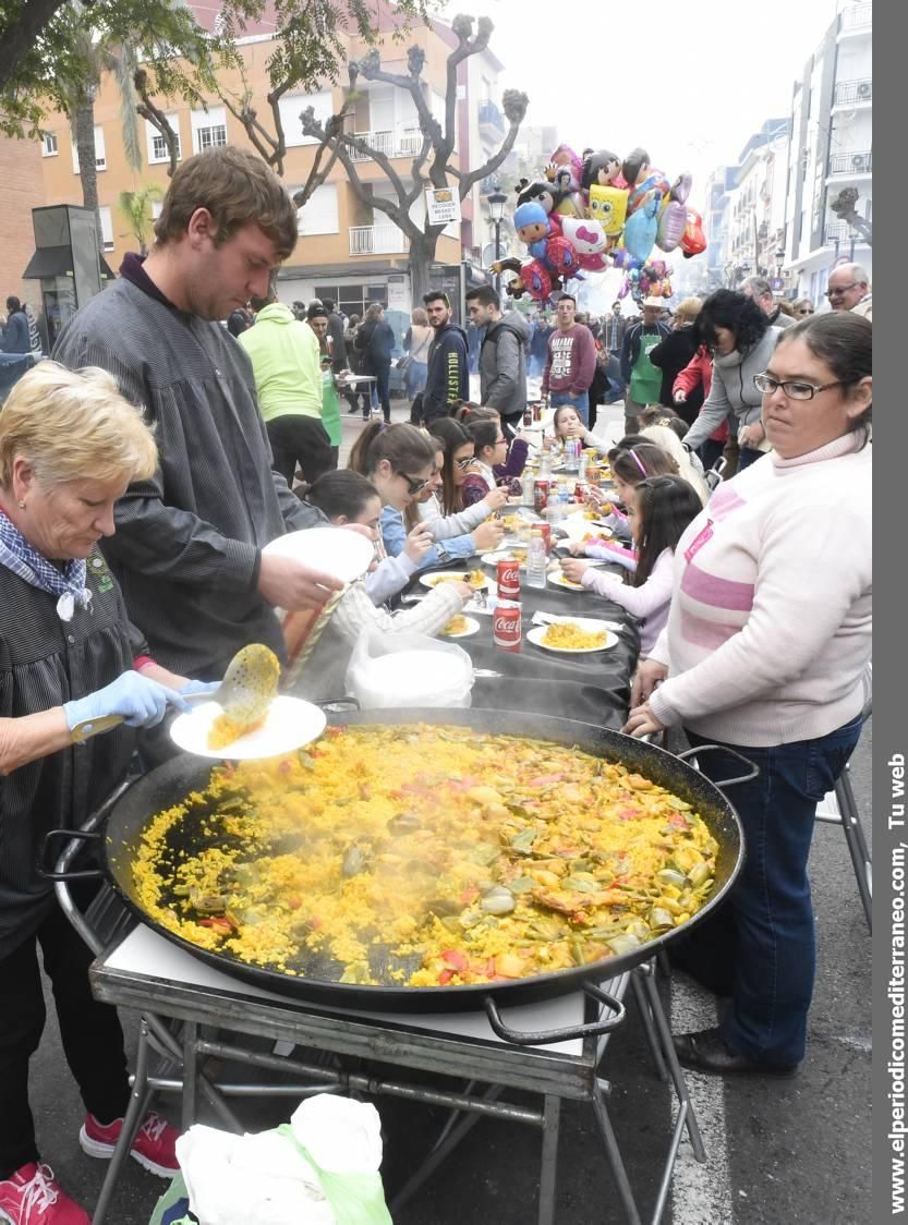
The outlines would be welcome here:
<svg viewBox="0 0 908 1225">
<path fill-rule="evenodd" d="M 40 361 L 10 392 L 0 412 L 0 488 L 22 456 L 42 485 L 67 480 L 147 480 L 158 448 L 142 413 L 124 399 L 107 370 L 67 370 Z"/>
</svg>

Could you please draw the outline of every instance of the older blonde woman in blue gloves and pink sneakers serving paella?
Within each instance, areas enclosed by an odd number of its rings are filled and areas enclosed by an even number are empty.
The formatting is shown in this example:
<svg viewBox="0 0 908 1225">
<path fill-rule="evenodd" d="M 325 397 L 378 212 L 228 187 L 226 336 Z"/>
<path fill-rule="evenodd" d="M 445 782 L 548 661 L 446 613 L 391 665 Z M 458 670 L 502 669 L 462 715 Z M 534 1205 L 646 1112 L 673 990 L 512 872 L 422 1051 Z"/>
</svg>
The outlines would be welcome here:
<svg viewBox="0 0 908 1225">
<path fill-rule="evenodd" d="M 87 1153 L 113 1154 L 129 1102 L 116 1011 L 92 998 L 92 954 L 36 860 L 48 829 L 80 826 L 126 777 L 134 729 L 185 707 L 186 680 L 148 658 L 97 549 L 118 497 L 156 464 L 151 431 L 102 370 L 42 363 L 0 413 L 0 1218 L 13 1225 L 88 1223 L 40 1161 L 28 1106 L 44 1028 L 38 944 Z M 74 729 L 109 714 L 124 723 L 74 744 Z M 170 1176 L 174 1139 L 149 1115 L 132 1155 Z"/>
</svg>

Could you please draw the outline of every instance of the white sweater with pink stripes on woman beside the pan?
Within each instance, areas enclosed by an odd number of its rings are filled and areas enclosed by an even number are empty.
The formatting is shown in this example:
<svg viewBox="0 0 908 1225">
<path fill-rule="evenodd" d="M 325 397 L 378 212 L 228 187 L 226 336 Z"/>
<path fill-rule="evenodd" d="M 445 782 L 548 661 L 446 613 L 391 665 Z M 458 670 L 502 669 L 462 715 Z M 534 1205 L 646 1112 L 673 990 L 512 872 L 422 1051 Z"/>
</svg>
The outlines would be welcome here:
<svg viewBox="0 0 908 1225">
<path fill-rule="evenodd" d="M 766 747 L 859 714 L 871 650 L 872 447 L 770 452 L 721 485 L 675 549 L 657 719 Z"/>
</svg>

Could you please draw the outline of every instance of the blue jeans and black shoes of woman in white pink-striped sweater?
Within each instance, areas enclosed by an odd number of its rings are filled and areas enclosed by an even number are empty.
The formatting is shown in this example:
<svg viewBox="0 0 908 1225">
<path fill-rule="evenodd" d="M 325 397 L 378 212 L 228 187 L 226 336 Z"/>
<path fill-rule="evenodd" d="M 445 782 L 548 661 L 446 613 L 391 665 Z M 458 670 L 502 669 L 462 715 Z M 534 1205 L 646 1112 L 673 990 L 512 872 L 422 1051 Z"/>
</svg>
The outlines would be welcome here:
<svg viewBox="0 0 908 1225">
<path fill-rule="evenodd" d="M 760 767 L 752 782 L 729 789 L 744 826 L 744 867 L 725 904 L 673 960 L 732 996 L 722 1036 L 752 1060 L 804 1058 L 816 962 L 808 880 L 816 805 L 844 769 L 861 725 L 857 715 L 817 740 L 729 746 Z M 687 739 L 694 747 L 714 742 L 692 731 Z M 700 768 L 713 780 L 740 774 L 740 763 L 724 753 L 705 753 Z"/>
</svg>

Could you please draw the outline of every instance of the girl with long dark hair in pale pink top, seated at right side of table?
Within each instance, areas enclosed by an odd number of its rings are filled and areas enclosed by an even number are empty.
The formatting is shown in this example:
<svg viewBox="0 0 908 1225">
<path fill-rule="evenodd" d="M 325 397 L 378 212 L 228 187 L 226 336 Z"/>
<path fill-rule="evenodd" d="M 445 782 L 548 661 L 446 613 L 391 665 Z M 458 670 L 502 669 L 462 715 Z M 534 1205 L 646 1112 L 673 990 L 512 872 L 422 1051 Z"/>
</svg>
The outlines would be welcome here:
<svg viewBox="0 0 908 1225">
<path fill-rule="evenodd" d="M 627 516 L 637 549 L 637 568 L 630 586 L 616 575 L 566 557 L 561 568 L 573 583 L 614 600 L 640 621 L 640 652 L 646 655 L 668 624 L 675 546 L 702 505 L 680 477 L 647 477 L 634 490 Z"/>
</svg>

